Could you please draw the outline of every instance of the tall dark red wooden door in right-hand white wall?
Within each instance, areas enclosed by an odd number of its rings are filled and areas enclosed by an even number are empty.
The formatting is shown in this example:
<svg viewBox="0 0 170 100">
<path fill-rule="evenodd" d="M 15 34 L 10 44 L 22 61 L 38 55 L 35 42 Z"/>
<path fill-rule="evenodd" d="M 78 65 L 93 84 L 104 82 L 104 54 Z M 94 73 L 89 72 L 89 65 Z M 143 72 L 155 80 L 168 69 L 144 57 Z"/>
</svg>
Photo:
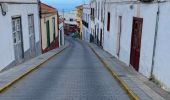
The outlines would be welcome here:
<svg viewBox="0 0 170 100">
<path fill-rule="evenodd" d="M 142 18 L 133 18 L 130 64 L 136 71 L 139 71 L 142 25 Z"/>
</svg>

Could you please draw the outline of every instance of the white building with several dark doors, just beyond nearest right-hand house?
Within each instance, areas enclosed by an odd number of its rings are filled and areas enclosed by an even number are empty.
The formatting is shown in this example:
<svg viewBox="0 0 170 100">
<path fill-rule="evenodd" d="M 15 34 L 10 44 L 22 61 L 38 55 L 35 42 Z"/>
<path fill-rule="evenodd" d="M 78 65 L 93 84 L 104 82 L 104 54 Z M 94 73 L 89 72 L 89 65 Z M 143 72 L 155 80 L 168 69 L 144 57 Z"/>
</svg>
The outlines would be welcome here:
<svg viewBox="0 0 170 100">
<path fill-rule="evenodd" d="M 91 6 L 91 33 L 94 42 L 103 48 L 104 41 L 104 2 L 105 0 L 93 0 Z"/>
</svg>

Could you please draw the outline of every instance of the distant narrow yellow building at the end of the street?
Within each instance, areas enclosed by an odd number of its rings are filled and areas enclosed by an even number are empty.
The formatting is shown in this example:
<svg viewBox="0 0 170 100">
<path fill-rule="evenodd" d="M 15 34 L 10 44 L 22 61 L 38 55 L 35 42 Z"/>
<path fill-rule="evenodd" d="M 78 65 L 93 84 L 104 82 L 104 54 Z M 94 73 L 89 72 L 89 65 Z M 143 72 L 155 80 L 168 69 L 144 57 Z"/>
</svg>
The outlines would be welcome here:
<svg viewBox="0 0 170 100">
<path fill-rule="evenodd" d="M 82 39 L 82 29 L 83 29 L 82 16 L 83 16 L 83 5 L 80 5 L 76 7 L 76 20 L 77 20 L 77 28 L 78 28 L 80 39 Z"/>
</svg>

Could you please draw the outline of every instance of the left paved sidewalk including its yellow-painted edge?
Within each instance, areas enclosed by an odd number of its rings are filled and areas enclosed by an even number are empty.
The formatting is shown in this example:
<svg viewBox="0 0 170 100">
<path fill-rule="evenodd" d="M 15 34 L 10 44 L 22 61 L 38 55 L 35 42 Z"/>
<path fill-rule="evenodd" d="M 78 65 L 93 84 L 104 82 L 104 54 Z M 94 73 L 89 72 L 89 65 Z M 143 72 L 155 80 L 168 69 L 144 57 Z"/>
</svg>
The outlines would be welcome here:
<svg viewBox="0 0 170 100">
<path fill-rule="evenodd" d="M 28 74 L 31 70 L 33 71 L 34 69 L 38 68 L 41 64 L 45 63 L 50 58 L 57 55 L 58 53 L 63 51 L 68 46 L 69 46 L 69 43 L 66 42 L 66 44 L 60 48 L 51 50 L 48 53 L 35 57 L 23 64 L 15 66 L 4 72 L 1 72 L 0 73 L 0 92 L 3 92 L 10 85 L 12 85 L 16 81 L 18 81 L 20 78 L 22 78 L 24 75 L 26 75 L 26 73 Z"/>
</svg>

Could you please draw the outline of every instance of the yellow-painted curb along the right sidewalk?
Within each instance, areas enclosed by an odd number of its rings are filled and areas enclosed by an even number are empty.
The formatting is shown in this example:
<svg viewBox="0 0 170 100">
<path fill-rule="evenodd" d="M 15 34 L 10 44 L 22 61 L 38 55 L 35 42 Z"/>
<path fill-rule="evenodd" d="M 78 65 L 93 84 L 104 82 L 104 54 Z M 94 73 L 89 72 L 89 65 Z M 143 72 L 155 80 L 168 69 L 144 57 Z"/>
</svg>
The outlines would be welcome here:
<svg viewBox="0 0 170 100">
<path fill-rule="evenodd" d="M 128 96 L 131 100 L 140 100 L 139 97 L 128 87 L 128 85 L 118 76 L 118 74 L 112 70 L 109 65 L 97 54 L 97 52 L 90 46 L 88 43 L 88 46 L 93 51 L 93 53 L 97 56 L 97 58 L 102 62 L 104 67 L 112 74 L 112 76 L 117 80 L 118 83 L 120 83 L 121 87 L 126 91 Z"/>
</svg>

